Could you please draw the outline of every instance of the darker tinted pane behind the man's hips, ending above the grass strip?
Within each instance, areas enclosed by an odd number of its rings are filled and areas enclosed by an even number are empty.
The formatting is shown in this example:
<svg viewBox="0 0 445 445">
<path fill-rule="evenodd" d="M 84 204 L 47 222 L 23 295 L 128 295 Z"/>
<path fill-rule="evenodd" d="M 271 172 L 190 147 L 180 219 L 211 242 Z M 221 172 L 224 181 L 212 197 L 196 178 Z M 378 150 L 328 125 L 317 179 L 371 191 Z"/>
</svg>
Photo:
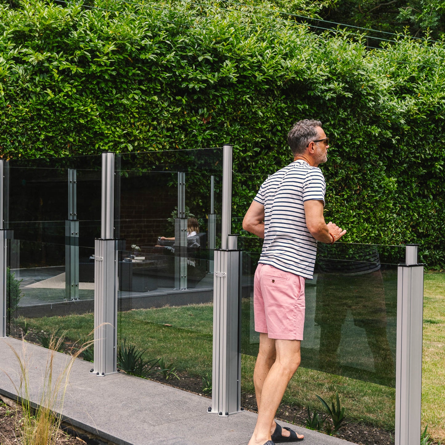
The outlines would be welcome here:
<svg viewBox="0 0 445 445">
<path fill-rule="evenodd" d="M 261 241 L 240 237 L 243 251 L 242 352 L 258 353 L 253 278 Z M 395 385 L 397 266 L 404 247 L 319 243 L 314 280 L 306 280 L 301 366 Z"/>
</svg>

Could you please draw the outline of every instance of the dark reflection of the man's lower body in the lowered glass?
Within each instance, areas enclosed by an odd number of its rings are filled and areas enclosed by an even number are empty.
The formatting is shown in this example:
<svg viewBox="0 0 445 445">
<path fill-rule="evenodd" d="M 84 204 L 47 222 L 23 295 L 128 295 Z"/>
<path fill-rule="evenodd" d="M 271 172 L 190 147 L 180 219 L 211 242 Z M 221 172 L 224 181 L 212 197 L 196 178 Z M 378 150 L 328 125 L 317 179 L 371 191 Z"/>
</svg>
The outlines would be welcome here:
<svg viewBox="0 0 445 445">
<path fill-rule="evenodd" d="M 315 322 L 320 325 L 320 370 L 340 373 L 338 348 L 342 335 L 345 344 L 356 351 L 354 339 L 342 333 L 351 311 L 354 325 L 366 332 L 374 380 L 392 386 L 395 370 L 386 332 L 385 293 L 376 248 L 356 245 L 352 253 L 319 253 L 318 263 L 322 273 L 317 280 Z M 359 355 L 356 351 L 356 357 Z"/>
</svg>

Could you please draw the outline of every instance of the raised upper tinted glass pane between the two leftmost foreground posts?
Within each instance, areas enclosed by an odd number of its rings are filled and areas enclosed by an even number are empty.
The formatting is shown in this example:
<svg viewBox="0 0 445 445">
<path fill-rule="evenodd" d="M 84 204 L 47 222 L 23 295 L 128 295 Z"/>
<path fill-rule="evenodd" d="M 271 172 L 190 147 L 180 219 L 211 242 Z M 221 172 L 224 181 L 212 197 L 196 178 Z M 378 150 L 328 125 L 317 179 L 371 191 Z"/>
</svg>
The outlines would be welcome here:
<svg viewBox="0 0 445 445">
<path fill-rule="evenodd" d="M 79 243 L 100 236 L 101 156 L 12 160 L 6 163 L 5 226 L 16 239 L 65 243 L 66 221 L 79 221 Z M 70 214 L 69 170 L 76 174 L 76 214 Z"/>
</svg>

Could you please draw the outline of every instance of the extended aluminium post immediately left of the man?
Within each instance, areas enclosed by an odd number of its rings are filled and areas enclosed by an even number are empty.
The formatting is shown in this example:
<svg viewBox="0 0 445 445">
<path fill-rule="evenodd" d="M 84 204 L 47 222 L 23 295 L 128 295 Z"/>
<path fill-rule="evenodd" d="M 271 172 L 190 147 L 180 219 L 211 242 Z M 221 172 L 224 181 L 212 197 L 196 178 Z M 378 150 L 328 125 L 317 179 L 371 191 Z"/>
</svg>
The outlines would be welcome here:
<svg viewBox="0 0 445 445">
<path fill-rule="evenodd" d="M 214 251 L 212 405 L 227 417 L 241 409 L 241 252 L 231 230 L 232 146 L 223 149 L 222 248 Z"/>
</svg>

